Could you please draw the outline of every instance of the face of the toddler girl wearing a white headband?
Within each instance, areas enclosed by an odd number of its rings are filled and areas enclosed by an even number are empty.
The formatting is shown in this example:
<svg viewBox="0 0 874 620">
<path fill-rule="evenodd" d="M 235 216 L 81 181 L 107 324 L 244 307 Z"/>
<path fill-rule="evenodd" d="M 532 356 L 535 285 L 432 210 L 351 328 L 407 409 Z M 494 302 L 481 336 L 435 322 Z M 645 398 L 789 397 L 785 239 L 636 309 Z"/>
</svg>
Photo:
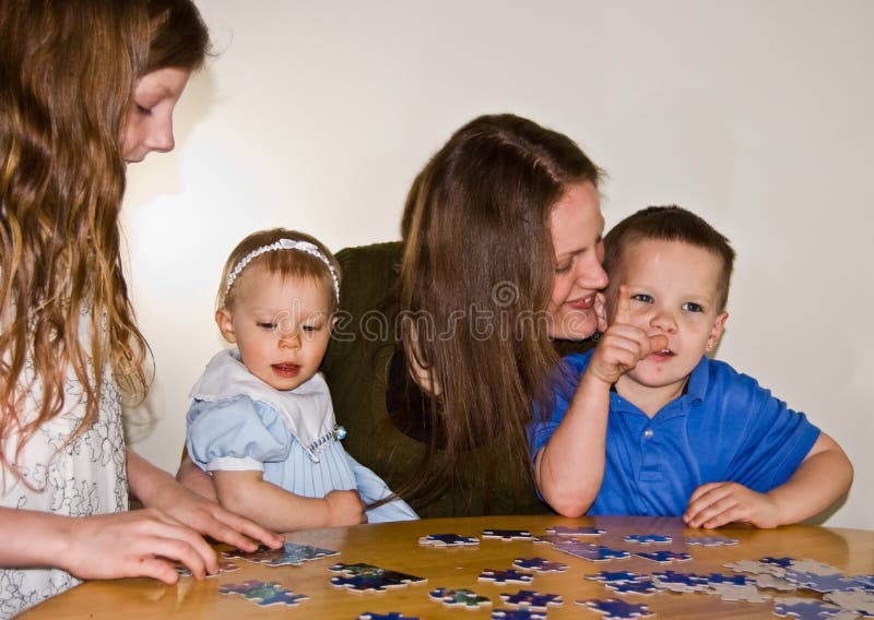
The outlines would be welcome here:
<svg viewBox="0 0 874 620">
<path fill-rule="evenodd" d="M 332 290 L 312 277 L 284 278 L 250 267 L 234 306 L 215 313 L 246 368 L 276 390 L 294 390 L 319 370 L 330 338 Z"/>
</svg>

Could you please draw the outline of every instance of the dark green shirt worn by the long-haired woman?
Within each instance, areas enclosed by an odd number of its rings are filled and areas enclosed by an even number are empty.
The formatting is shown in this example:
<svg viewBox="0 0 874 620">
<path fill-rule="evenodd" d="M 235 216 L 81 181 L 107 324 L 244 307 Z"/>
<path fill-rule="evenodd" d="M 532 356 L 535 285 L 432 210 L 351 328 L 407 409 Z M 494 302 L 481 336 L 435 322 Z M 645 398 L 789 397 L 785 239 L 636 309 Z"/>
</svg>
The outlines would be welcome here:
<svg viewBox="0 0 874 620">
<path fill-rule="evenodd" d="M 342 266 L 341 314 L 322 362 L 338 424 L 346 428 L 346 451 L 381 476 L 392 490 L 418 475 L 424 444 L 389 417 L 389 369 L 399 350 L 398 278 L 401 243 L 346 248 Z M 577 346 L 576 350 L 588 348 Z M 397 363 L 397 358 L 395 358 Z M 405 374 L 405 373 L 404 373 Z M 397 377 L 397 372 L 395 372 Z M 397 386 L 393 390 L 397 394 Z M 509 451 L 497 442 L 476 449 L 462 468 L 463 485 L 426 505 L 404 498 L 422 517 L 547 512 L 530 477 L 511 476 Z M 491 463 L 485 470 L 482 463 Z M 506 466 L 505 466 L 506 465 Z"/>
</svg>

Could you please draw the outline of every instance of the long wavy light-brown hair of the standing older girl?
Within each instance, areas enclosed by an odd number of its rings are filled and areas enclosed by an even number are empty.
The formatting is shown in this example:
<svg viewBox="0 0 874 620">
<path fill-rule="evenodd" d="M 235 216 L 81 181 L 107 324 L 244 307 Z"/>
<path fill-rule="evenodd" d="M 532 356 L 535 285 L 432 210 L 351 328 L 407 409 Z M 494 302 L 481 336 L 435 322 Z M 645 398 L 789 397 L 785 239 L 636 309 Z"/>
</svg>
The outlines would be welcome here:
<svg viewBox="0 0 874 620">
<path fill-rule="evenodd" d="M 97 417 L 107 365 L 145 393 L 119 253 L 121 135 L 137 80 L 197 69 L 208 48 L 190 0 L 0 0 L 0 444 L 15 446 L 2 468 L 61 413 L 70 370 L 85 404 L 73 437 Z"/>
</svg>

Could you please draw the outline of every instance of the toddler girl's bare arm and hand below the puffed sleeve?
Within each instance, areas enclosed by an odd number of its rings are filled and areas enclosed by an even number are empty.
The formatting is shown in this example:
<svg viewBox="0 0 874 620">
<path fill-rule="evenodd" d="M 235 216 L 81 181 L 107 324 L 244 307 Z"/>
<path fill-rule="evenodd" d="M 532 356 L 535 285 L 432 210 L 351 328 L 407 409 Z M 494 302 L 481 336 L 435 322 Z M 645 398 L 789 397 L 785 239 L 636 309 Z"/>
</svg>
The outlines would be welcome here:
<svg viewBox="0 0 874 620">
<path fill-rule="evenodd" d="M 262 473 L 213 472 L 223 506 L 257 520 L 276 532 L 366 523 L 356 491 L 331 491 L 324 498 L 304 498 L 263 479 Z"/>
</svg>

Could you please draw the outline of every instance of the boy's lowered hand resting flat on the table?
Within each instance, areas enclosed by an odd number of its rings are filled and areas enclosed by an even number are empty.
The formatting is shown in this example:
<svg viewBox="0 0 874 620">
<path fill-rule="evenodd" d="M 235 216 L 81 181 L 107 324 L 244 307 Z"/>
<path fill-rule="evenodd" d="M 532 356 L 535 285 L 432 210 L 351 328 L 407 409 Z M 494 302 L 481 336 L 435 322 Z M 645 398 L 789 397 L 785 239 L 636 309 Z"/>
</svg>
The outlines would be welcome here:
<svg viewBox="0 0 874 620">
<path fill-rule="evenodd" d="M 780 525 L 777 502 L 737 482 L 709 482 L 695 489 L 683 521 L 708 529 L 737 521 L 763 528 Z"/>
</svg>

